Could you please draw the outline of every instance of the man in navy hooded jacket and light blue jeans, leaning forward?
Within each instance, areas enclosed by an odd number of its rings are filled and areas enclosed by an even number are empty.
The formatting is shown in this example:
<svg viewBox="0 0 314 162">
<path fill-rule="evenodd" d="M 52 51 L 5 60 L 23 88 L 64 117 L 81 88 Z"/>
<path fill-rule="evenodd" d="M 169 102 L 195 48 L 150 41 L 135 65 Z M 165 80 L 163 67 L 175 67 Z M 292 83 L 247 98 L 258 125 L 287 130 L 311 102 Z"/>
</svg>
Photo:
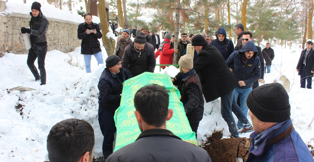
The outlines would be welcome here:
<svg viewBox="0 0 314 162">
<path fill-rule="evenodd" d="M 246 98 L 252 91 L 254 82 L 260 79 L 262 73 L 261 62 L 259 61 L 259 57 L 257 57 L 255 44 L 252 41 L 247 41 L 241 50 L 234 51 L 230 55 L 228 60 L 226 60 L 226 64 L 238 79 L 239 86 L 235 89 L 234 97 L 236 99 L 240 95 L 241 110 L 247 116 L 248 107 L 246 105 Z M 239 122 L 237 126 L 238 128 L 243 128 Z M 247 132 L 247 130 L 242 131 Z M 241 130 L 239 133 L 241 133 Z"/>
</svg>

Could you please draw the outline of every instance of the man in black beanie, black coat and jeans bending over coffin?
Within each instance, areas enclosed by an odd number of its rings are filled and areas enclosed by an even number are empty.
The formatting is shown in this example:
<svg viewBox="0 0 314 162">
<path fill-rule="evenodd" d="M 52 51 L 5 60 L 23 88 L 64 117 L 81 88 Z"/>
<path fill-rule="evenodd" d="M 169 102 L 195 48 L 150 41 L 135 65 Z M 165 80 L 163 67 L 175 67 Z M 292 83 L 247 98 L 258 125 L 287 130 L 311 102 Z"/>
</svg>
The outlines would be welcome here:
<svg viewBox="0 0 314 162">
<path fill-rule="evenodd" d="M 252 125 L 240 107 L 231 108 L 234 89 L 239 85 L 236 77 L 229 70 L 219 50 L 213 45 L 208 45 L 202 35 L 198 34 L 192 38 L 192 46 L 198 52 L 193 68 L 200 77 L 206 102 L 221 98 L 222 118 L 227 122 L 231 136 L 239 138 L 232 112 L 245 128 L 251 128 Z"/>
</svg>

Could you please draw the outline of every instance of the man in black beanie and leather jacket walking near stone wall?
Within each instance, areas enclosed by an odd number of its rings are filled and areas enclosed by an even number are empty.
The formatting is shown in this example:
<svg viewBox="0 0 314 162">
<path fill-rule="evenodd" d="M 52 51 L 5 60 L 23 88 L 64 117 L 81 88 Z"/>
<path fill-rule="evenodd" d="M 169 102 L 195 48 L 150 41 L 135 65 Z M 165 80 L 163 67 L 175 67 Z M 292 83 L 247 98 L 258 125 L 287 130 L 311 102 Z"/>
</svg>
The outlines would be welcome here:
<svg viewBox="0 0 314 162">
<path fill-rule="evenodd" d="M 22 27 L 21 33 L 30 34 L 30 42 L 32 47 L 28 51 L 27 65 L 30 71 L 35 77 L 35 81 L 41 81 L 41 85 L 46 84 L 46 69 L 45 69 L 45 58 L 47 53 L 47 38 L 46 32 L 48 29 L 48 20 L 46 16 L 41 13 L 41 4 L 34 2 L 30 12 L 30 29 Z M 38 69 L 34 64 L 36 58 L 38 58 Z"/>
</svg>

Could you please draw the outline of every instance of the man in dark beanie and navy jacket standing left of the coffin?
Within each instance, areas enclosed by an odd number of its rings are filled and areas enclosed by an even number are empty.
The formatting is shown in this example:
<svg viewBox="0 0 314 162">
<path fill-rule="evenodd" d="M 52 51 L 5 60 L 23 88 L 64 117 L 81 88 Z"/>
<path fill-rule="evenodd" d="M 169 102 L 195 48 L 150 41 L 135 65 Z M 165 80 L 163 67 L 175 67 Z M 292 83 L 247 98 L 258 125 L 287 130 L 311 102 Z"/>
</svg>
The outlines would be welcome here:
<svg viewBox="0 0 314 162">
<path fill-rule="evenodd" d="M 122 69 L 120 57 L 117 55 L 108 56 L 106 68 L 98 83 L 98 121 L 104 136 L 102 143 L 104 159 L 113 151 L 114 133 L 116 132 L 113 117 L 116 109 L 120 106 L 122 83 L 129 78 L 132 78 L 132 74 L 129 70 Z"/>
</svg>

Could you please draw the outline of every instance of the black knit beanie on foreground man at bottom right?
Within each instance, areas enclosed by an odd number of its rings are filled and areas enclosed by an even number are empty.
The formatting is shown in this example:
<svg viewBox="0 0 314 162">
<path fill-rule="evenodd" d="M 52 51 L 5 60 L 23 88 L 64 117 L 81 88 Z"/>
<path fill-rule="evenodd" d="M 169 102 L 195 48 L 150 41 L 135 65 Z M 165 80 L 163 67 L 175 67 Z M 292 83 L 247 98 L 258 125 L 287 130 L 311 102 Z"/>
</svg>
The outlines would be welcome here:
<svg viewBox="0 0 314 162">
<path fill-rule="evenodd" d="M 262 122 L 284 122 L 290 118 L 289 96 L 279 83 L 253 89 L 246 99 L 247 107 Z"/>
</svg>

